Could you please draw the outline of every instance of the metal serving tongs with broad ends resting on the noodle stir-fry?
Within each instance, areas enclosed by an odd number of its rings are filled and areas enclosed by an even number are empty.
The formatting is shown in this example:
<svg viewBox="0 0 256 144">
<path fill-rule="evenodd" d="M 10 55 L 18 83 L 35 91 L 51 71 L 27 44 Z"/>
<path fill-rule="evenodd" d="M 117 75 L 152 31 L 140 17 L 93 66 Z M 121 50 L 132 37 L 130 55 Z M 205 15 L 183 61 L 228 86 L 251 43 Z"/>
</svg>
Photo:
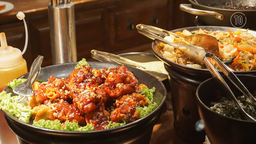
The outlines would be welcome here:
<svg viewBox="0 0 256 144">
<path fill-rule="evenodd" d="M 210 34 L 192 34 L 192 35 L 179 35 L 176 33 L 169 32 L 164 29 L 160 29 L 154 26 L 148 26 L 139 24 L 136 26 L 139 33 L 145 35 L 146 37 L 152 40 L 159 40 L 165 44 L 169 44 L 174 46 L 175 48 L 181 49 L 181 47 L 185 47 L 184 55 L 189 57 L 200 64 L 203 64 L 203 56 L 206 52 L 219 52 L 218 41 L 215 37 Z M 175 35 L 178 37 L 183 37 L 185 41 L 188 41 L 191 45 L 188 44 L 174 44 L 171 42 L 166 41 L 165 39 L 159 37 L 156 34 L 161 35 Z"/>
</svg>

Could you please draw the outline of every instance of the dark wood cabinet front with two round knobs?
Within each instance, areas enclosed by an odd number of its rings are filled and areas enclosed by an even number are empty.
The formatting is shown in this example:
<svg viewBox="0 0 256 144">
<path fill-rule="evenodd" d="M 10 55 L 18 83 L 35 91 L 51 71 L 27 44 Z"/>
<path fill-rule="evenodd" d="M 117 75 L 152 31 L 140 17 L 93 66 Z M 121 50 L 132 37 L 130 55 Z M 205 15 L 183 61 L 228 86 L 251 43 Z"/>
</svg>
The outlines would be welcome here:
<svg viewBox="0 0 256 144">
<path fill-rule="evenodd" d="M 126 8 L 127 7 L 127 8 Z M 147 0 L 129 6 L 109 8 L 109 38 L 113 49 L 150 42 L 138 33 L 136 25 L 145 24 L 168 29 L 168 0 Z"/>
</svg>

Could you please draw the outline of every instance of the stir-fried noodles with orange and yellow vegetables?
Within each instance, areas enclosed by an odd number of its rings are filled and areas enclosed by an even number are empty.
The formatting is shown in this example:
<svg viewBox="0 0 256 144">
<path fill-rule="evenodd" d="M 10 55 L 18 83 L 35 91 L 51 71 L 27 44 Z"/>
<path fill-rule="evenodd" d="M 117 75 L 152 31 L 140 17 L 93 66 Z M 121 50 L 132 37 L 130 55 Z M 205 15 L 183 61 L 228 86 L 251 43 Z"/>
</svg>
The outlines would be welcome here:
<svg viewBox="0 0 256 144">
<path fill-rule="evenodd" d="M 198 33 L 211 34 L 218 40 L 219 53 L 218 58 L 223 61 L 227 66 L 229 66 L 234 71 L 251 71 L 256 70 L 256 39 L 252 34 L 246 31 L 208 31 L 208 30 L 194 30 L 188 31 L 183 30 L 175 32 L 181 35 L 191 35 Z M 185 41 L 182 37 L 166 36 L 165 40 L 176 43 L 176 44 L 190 44 Z M 160 43 L 161 55 L 172 61 L 185 66 L 204 69 L 205 66 L 198 62 L 191 60 L 189 57 L 184 56 L 184 51 L 186 47 L 177 49 L 168 44 Z M 183 51 L 184 50 L 184 51 Z M 214 62 L 211 61 L 213 64 Z M 217 68 L 217 67 L 216 67 Z"/>
</svg>

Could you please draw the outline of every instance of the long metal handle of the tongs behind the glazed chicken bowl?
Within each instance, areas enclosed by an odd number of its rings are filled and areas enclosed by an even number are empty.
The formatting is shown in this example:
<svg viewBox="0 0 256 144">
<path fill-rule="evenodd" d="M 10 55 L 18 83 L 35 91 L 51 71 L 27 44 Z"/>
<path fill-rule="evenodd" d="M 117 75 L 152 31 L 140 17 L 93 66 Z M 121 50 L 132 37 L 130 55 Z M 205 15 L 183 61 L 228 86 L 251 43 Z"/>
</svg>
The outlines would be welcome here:
<svg viewBox="0 0 256 144">
<path fill-rule="evenodd" d="M 115 62 L 115 63 L 119 63 L 119 64 L 125 64 L 125 65 L 129 65 L 129 66 L 134 66 L 134 67 L 139 67 L 142 69 L 146 69 L 145 67 L 141 66 L 140 62 L 136 62 L 124 57 L 120 57 L 111 53 L 107 53 L 107 52 L 101 52 L 101 51 L 97 51 L 95 49 L 91 50 L 91 54 L 92 54 L 92 58 L 97 59 L 99 61 L 108 61 L 108 62 Z"/>
</svg>

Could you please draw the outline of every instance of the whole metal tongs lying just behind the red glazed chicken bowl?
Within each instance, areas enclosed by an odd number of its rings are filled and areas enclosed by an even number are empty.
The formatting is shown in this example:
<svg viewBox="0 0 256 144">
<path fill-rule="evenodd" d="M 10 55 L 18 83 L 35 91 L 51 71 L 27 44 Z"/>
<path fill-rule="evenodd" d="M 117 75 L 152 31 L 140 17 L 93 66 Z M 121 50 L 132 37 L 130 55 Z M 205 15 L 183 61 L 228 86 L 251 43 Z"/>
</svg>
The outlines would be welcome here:
<svg viewBox="0 0 256 144">
<path fill-rule="evenodd" d="M 154 61 L 154 62 L 137 62 L 137 61 L 133 61 L 124 57 L 120 57 L 111 53 L 106 53 L 106 52 L 101 52 L 101 51 L 97 51 L 95 49 L 91 50 L 91 57 L 94 59 L 97 59 L 99 61 L 108 61 L 108 62 L 114 62 L 114 63 L 118 63 L 118 64 L 125 64 L 128 66 L 132 66 L 132 67 L 136 67 L 136 68 L 140 68 L 143 70 L 146 70 L 147 67 L 150 66 L 151 63 L 157 63 L 162 64 L 161 61 Z M 146 70 L 147 72 L 151 73 L 152 75 L 156 76 L 160 81 L 165 80 L 168 78 L 168 75 L 162 72 L 157 72 L 157 71 L 150 71 L 150 70 Z"/>
</svg>

